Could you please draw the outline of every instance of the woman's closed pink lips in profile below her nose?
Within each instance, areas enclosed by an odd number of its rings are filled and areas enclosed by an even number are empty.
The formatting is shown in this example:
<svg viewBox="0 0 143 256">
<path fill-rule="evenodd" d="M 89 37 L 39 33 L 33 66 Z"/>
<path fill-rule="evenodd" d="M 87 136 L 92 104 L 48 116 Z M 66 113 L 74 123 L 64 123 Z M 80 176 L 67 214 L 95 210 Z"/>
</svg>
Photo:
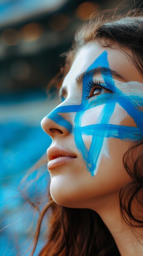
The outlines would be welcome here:
<svg viewBox="0 0 143 256">
<path fill-rule="evenodd" d="M 62 148 L 52 147 L 47 150 L 48 156 L 48 169 L 53 169 L 59 165 L 65 164 L 77 157 L 70 151 L 63 150 Z"/>
</svg>

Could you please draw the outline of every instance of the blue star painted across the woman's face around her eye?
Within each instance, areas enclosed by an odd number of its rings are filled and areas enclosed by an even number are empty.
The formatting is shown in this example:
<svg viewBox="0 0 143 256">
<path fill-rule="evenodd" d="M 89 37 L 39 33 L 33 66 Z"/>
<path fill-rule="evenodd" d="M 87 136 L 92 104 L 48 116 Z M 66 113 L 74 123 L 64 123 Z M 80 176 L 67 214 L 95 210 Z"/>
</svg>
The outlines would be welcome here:
<svg viewBox="0 0 143 256">
<path fill-rule="evenodd" d="M 135 84 L 131 85 L 130 82 L 128 82 L 130 86 L 128 86 L 128 83 L 122 83 L 122 90 L 117 88 L 115 86 L 114 79 L 112 78 L 112 72 L 110 72 L 107 54 L 108 53 L 104 51 L 84 73 L 81 104 L 59 106 L 47 116 L 60 126 L 64 126 L 69 132 L 73 133 L 75 144 L 86 162 L 87 169 L 90 171 L 92 176 L 97 173 L 101 157 L 104 152 L 103 142 L 105 138 L 113 137 L 124 141 L 139 141 L 143 138 L 143 112 L 139 110 L 139 107 L 143 106 L 141 88 L 137 91 L 138 86 Z M 104 86 L 111 92 L 98 95 L 95 99 L 92 97 L 92 100 L 87 99 L 89 96 L 87 93 L 87 84 L 89 81 L 93 81 L 95 70 L 99 67 L 103 67 L 104 71 L 108 70 L 108 72 L 103 72 L 101 68 L 101 76 L 104 81 Z M 133 83 L 137 84 L 137 82 Z M 138 84 L 141 86 L 141 83 Z M 130 90 L 127 91 L 127 88 L 130 88 Z M 136 93 L 134 93 L 135 88 Z M 110 119 L 114 112 L 116 103 L 118 103 L 128 113 L 128 115 L 134 119 L 137 127 L 110 124 Z M 104 104 L 104 106 L 96 124 L 81 126 L 82 117 L 85 111 L 102 104 Z M 68 112 L 76 112 L 75 127 L 59 115 L 59 113 Z M 82 135 L 92 135 L 89 149 L 86 147 Z"/>
</svg>

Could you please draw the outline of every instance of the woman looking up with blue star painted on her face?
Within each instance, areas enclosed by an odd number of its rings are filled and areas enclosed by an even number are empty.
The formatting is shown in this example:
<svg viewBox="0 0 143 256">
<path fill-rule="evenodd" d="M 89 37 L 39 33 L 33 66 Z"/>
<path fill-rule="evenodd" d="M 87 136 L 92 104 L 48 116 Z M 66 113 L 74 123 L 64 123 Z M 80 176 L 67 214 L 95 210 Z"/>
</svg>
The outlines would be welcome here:
<svg viewBox="0 0 143 256">
<path fill-rule="evenodd" d="M 140 13 L 96 14 L 67 54 L 62 102 L 42 120 L 53 142 L 50 202 L 35 237 L 36 246 L 51 209 L 40 256 L 143 255 Z"/>
</svg>

